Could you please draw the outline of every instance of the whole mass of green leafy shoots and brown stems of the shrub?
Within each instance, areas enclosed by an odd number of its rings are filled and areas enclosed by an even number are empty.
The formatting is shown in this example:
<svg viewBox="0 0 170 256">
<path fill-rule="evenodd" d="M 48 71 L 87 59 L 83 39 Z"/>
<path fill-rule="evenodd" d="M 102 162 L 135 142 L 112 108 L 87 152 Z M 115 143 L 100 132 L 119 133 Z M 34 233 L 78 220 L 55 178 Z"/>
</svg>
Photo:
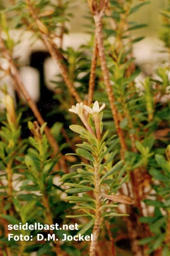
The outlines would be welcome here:
<svg viewBox="0 0 170 256">
<path fill-rule="evenodd" d="M 146 26 L 130 21 L 131 15 L 149 2 L 134 5 L 132 0 L 109 1 L 100 24 L 103 34 L 98 34 L 104 44 L 102 61 L 99 47 L 95 47 L 94 18 L 98 13 L 94 12 L 97 7 L 102 12 L 104 1 L 87 1 L 91 13 L 85 18 L 91 24 L 86 29 L 91 40 L 77 50 L 63 49 L 63 35 L 69 33 L 67 22 L 72 18 L 70 1 L 14 2 L 4 3 L 0 11 L 0 39 L 5 45 L 0 42 L 0 60 L 5 58 L 9 63 L 7 70 L 0 67 L 3 76 L 10 74 L 17 88 L 19 73 L 16 75 L 11 65 L 21 63 L 8 56 L 15 52 L 21 37 L 15 42 L 12 29 L 22 29 L 21 34 L 31 31 L 30 45 L 42 40 L 57 60 L 61 74 L 57 75 L 57 82 L 53 79 L 55 106 L 47 114 L 54 123 L 51 129 L 46 123 L 39 126 L 37 121 L 28 122 L 34 118 L 28 108 L 22 106 L 16 112 L 12 98 L 3 91 L 6 119 L 3 115 L 5 121 L 0 129 L 0 254 L 79 256 L 89 255 L 90 248 L 90 256 L 96 250 L 102 255 L 111 251 L 116 256 L 121 250 L 119 239 L 127 236 L 133 255 L 170 255 L 169 60 L 163 60 L 154 74 L 136 84 L 141 70 L 135 65 L 133 45 L 144 37 L 134 38 L 131 34 Z M 163 27 L 159 36 L 169 58 L 169 7 L 161 15 Z M 104 59 L 105 69 L 101 68 Z M 105 79 L 108 74 L 109 94 Z M 109 100 L 111 94 L 115 113 Z M 87 104 L 89 97 L 92 102 L 96 100 L 91 106 Z M 22 103 L 17 100 L 19 104 Z M 99 108 L 99 104 L 103 105 Z M 103 113 L 99 114 L 101 110 Z M 37 112 L 33 114 L 37 118 Z M 53 120 L 54 114 L 57 118 L 60 115 L 62 121 Z M 120 130 L 124 138 L 115 138 Z M 47 139 L 50 132 L 59 145 L 57 152 Z M 73 172 L 70 162 L 74 162 Z M 62 245 L 60 241 L 37 241 L 37 230 L 12 230 L 14 235 L 32 236 L 32 241 L 7 238 L 8 224 L 39 222 L 45 227 L 58 223 L 62 227 L 75 223 L 75 219 L 78 234 L 93 233 L 94 241 L 97 243 L 99 237 L 101 242 L 98 246 L 86 241 L 66 240 Z M 77 235 L 77 230 L 43 229 L 39 233 L 45 238 L 55 234 L 61 240 L 63 234 Z"/>
</svg>

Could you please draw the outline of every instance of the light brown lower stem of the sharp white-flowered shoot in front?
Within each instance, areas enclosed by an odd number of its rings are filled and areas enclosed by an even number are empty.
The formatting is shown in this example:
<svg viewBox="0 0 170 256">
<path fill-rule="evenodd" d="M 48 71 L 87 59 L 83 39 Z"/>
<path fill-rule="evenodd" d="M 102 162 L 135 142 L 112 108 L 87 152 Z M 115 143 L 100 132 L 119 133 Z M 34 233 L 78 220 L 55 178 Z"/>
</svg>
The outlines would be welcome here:
<svg viewBox="0 0 170 256">
<path fill-rule="evenodd" d="M 97 241 L 98 241 L 98 235 L 100 232 L 100 225 L 102 222 L 101 219 L 101 213 L 100 213 L 100 207 L 101 207 L 101 191 L 100 191 L 100 177 L 98 174 L 99 171 L 99 164 L 94 163 L 94 182 L 95 182 L 95 199 L 96 199 L 96 218 L 95 218 L 95 223 L 93 227 L 93 240 L 91 241 L 90 244 L 90 254 L 89 256 L 95 256 L 96 255 L 96 246 L 97 246 Z"/>
</svg>

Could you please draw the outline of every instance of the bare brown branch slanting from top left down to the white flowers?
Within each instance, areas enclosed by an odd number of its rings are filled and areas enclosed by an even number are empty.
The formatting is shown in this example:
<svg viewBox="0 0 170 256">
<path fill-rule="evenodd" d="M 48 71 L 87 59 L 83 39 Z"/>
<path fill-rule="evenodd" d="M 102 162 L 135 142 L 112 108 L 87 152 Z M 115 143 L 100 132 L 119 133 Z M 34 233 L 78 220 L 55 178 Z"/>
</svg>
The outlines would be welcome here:
<svg viewBox="0 0 170 256">
<path fill-rule="evenodd" d="M 35 20 L 38 28 L 39 28 L 39 31 L 41 33 L 41 36 L 42 36 L 42 39 L 49 51 L 49 53 L 51 54 L 51 57 L 53 58 L 53 60 L 56 62 L 57 66 L 59 67 L 59 71 L 67 85 L 67 87 L 69 88 L 71 94 L 74 96 L 75 100 L 78 102 L 78 103 L 81 103 L 82 100 L 80 98 L 80 96 L 78 95 L 76 89 L 74 88 L 71 80 L 69 79 L 69 75 L 68 75 L 68 72 L 65 68 L 65 65 L 63 65 L 60 60 L 59 60 L 59 55 L 56 51 L 57 48 L 54 47 L 54 45 L 51 43 L 51 40 L 50 38 L 48 38 L 48 30 L 46 28 L 46 26 L 37 18 L 36 16 L 36 13 L 33 9 L 33 6 L 31 5 L 31 1 L 30 0 L 25 0 L 25 2 L 27 3 L 28 5 L 28 8 L 29 8 L 29 11 L 30 11 L 30 14 L 31 16 L 33 17 L 33 19 Z M 58 49 L 57 49 L 58 50 Z"/>
</svg>

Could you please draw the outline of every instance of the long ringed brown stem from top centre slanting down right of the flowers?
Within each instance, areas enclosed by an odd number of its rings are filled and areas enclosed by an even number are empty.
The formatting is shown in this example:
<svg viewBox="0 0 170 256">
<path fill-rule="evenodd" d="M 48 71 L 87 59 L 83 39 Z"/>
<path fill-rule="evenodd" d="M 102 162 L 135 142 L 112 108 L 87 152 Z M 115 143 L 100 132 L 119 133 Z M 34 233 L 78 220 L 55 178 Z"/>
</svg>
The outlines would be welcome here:
<svg viewBox="0 0 170 256">
<path fill-rule="evenodd" d="M 106 56 L 105 56 L 105 52 L 104 52 L 101 15 L 99 13 L 96 13 L 96 15 L 94 15 L 94 20 L 95 20 L 95 25 L 96 25 L 95 34 L 96 34 L 96 38 L 97 38 L 101 70 L 103 72 L 103 79 L 104 79 L 104 83 L 106 85 L 106 91 L 107 91 L 108 98 L 110 101 L 111 112 L 112 112 L 112 115 L 114 118 L 116 130 L 117 130 L 118 136 L 120 137 L 121 156 L 122 156 L 122 158 L 124 158 L 124 151 L 127 150 L 127 146 L 125 143 L 123 130 L 120 128 L 120 121 L 118 118 L 118 110 L 117 110 L 116 105 L 114 104 L 115 97 L 114 97 L 113 89 L 112 89 L 111 82 L 110 82 L 109 70 L 107 67 Z"/>
</svg>

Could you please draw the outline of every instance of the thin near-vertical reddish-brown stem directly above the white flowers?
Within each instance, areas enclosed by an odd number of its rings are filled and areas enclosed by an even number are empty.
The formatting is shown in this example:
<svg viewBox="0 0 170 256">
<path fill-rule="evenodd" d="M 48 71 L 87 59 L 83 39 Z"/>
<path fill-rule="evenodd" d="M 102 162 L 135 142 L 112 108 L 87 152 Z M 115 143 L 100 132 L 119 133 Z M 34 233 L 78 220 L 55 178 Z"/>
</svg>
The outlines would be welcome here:
<svg viewBox="0 0 170 256">
<path fill-rule="evenodd" d="M 89 88 L 88 88 L 87 106 L 89 106 L 89 107 L 93 103 L 93 94 L 94 94 L 94 87 L 95 87 L 95 72 L 96 72 L 96 57 L 97 57 L 97 42 L 96 42 L 96 38 L 95 38 L 94 39 L 92 60 L 91 60 Z"/>
</svg>

